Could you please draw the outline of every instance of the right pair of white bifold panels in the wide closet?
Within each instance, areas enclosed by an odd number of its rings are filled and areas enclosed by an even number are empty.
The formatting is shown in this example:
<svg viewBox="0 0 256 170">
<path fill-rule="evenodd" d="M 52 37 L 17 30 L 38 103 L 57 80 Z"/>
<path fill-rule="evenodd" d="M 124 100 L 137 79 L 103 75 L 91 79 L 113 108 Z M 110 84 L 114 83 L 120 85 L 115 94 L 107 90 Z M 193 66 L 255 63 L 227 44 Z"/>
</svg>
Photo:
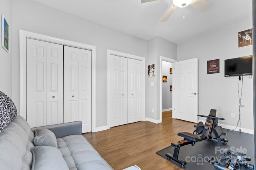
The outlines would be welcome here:
<svg viewBox="0 0 256 170">
<path fill-rule="evenodd" d="M 92 131 L 90 50 L 64 46 L 64 122 L 82 121 L 82 133 Z"/>
</svg>

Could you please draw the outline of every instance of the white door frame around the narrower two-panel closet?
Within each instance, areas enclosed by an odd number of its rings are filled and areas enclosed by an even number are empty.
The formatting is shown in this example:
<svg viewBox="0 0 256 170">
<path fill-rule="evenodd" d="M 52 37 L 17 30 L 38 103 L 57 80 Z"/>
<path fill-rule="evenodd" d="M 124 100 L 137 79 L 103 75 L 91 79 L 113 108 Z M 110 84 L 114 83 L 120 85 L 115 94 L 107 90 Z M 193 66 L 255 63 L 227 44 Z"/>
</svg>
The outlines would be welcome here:
<svg viewBox="0 0 256 170">
<path fill-rule="evenodd" d="M 107 68 L 108 68 L 108 73 L 107 73 L 107 80 L 108 80 L 108 84 L 107 84 L 107 98 L 108 98 L 108 108 L 107 108 L 107 117 L 108 117 L 108 125 L 107 128 L 110 129 L 110 55 L 116 55 L 116 56 L 120 56 L 120 57 L 125 57 L 128 59 L 135 59 L 135 60 L 140 60 L 142 61 L 142 121 L 145 121 L 145 58 L 143 57 L 139 57 L 136 55 L 130 55 L 130 54 L 126 54 L 126 53 L 121 53 L 118 51 L 113 51 L 113 50 L 107 50 L 107 58 L 108 58 L 108 62 L 107 62 Z"/>
</svg>

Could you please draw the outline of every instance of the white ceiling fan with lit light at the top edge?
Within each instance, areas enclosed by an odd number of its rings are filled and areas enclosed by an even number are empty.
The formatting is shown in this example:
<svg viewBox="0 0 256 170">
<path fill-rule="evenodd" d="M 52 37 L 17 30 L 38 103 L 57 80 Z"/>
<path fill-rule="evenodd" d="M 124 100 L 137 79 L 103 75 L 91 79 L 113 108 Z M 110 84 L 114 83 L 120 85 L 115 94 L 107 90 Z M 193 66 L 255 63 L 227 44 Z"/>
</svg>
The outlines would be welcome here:
<svg viewBox="0 0 256 170">
<path fill-rule="evenodd" d="M 156 0 L 141 0 L 141 3 L 151 2 L 151 1 L 156 1 Z M 180 8 L 184 8 L 188 5 L 191 5 L 201 12 L 204 12 L 210 6 L 210 4 L 205 0 L 172 0 L 172 2 L 173 2 L 172 6 L 169 8 L 169 10 L 166 12 L 166 14 L 163 16 L 160 22 L 167 21 L 172 15 L 172 13 L 174 12 L 174 10 L 177 8 L 177 6 Z"/>
</svg>

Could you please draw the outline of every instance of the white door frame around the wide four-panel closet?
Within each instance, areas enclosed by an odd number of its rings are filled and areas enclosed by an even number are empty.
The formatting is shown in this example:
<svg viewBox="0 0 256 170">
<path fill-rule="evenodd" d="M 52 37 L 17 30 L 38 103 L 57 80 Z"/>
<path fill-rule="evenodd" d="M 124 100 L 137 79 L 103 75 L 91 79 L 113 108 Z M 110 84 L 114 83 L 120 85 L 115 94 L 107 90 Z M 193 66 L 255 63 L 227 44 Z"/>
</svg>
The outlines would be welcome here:
<svg viewBox="0 0 256 170">
<path fill-rule="evenodd" d="M 26 39 L 32 38 L 41 41 L 47 41 L 50 43 L 57 43 L 61 45 L 67 45 L 76 48 L 82 48 L 92 51 L 92 132 L 96 129 L 96 47 L 83 43 L 77 43 L 74 41 L 68 41 L 65 39 L 50 37 L 47 35 L 41 35 L 38 33 L 32 33 L 29 31 L 19 30 L 20 33 L 20 115 L 26 119 Z"/>
</svg>

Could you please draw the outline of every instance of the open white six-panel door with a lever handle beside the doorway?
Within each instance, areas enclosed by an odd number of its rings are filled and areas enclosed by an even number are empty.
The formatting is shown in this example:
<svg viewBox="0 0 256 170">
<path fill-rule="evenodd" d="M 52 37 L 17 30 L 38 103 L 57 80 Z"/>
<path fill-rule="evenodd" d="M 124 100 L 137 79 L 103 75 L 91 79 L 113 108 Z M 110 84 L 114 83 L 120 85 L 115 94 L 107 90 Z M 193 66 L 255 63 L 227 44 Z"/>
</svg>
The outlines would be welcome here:
<svg viewBox="0 0 256 170">
<path fill-rule="evenodd" d="M 173 117 L 198 123 L 198 59 L 174 63 Z"/>
</svg>

